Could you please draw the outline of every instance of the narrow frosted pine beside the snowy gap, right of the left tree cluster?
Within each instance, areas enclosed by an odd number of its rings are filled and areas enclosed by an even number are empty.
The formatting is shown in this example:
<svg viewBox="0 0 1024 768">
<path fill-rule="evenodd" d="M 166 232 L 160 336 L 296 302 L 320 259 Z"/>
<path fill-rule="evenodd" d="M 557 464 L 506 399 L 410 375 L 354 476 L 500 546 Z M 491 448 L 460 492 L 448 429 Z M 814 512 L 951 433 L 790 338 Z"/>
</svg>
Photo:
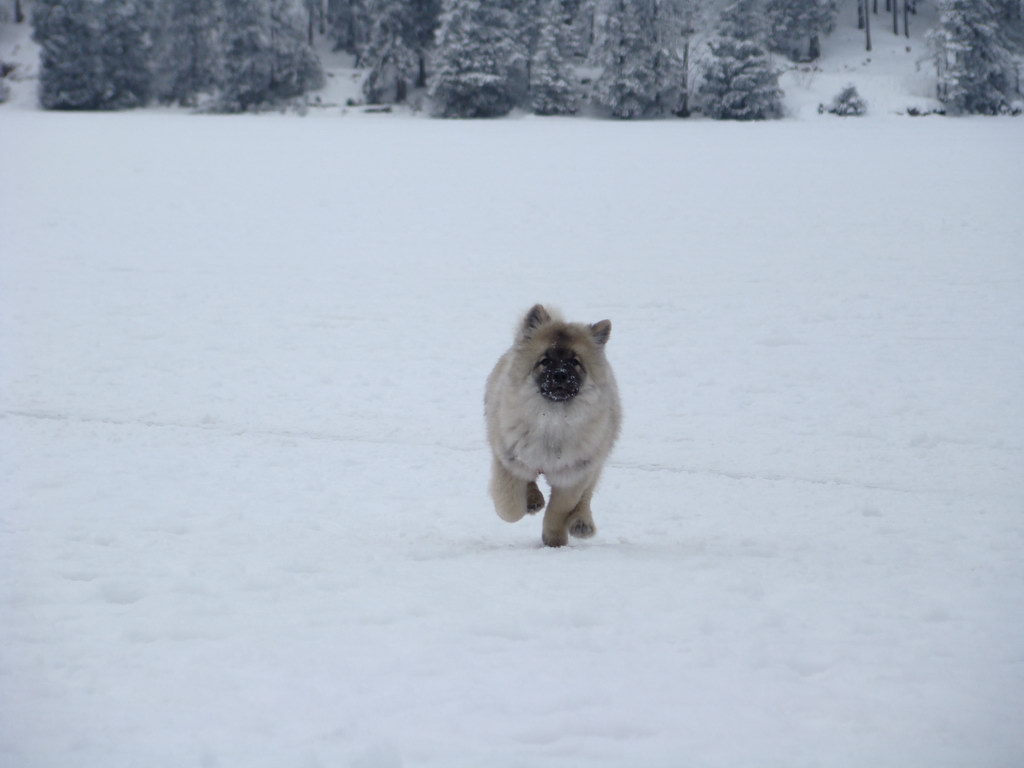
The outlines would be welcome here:
<svg viewBox="0 0 1024 768">
<path fill-rule="evenodd" d="M 359 63 L 370 70 L 362 93 L 371 103 L 401 103 L 417 74 L 419 57 L 412 7 L 406 0 L 373 0 L 373 27 Z"/>
</svg>

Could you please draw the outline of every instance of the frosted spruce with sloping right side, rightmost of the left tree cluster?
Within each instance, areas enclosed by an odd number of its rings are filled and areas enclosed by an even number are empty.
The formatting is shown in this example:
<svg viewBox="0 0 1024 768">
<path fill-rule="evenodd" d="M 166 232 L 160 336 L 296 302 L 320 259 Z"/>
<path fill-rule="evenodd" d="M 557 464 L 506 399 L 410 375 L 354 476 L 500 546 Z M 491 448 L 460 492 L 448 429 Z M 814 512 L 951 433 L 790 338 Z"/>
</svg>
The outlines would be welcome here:
<svg viewBox="0 0 1024 768">
<path fill-rule="evenodd" d="M 219 106 L 244 112 L 301 95 L 324 82 L 292 0 L 224 0 Z"/>
</svg>

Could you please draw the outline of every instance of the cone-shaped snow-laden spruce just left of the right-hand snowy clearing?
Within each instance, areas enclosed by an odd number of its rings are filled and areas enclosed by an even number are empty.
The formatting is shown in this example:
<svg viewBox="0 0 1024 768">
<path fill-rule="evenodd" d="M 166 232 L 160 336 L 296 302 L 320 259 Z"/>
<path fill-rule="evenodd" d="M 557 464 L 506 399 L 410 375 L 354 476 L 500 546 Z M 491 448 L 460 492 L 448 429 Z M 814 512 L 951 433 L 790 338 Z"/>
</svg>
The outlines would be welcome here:
<svg viewBox="0 0 1024 768">
<path fill-rule="evenodd" d="M 778 73 L 761 43 L 757 0 L 736 0 L 722 12 L 700 86 L 706 115 L 716 120 L 765 120 L 781 115 Z"/>
</svg>

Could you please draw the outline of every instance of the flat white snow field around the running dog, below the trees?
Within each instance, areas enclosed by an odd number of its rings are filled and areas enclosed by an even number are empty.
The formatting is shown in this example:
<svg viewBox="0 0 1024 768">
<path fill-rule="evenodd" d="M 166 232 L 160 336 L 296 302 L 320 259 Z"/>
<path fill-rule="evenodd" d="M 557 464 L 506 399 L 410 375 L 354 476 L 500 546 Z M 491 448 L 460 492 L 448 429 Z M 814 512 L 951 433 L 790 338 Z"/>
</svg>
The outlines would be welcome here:
<svg viewBox="0 0 1024 768">
<path fill-rule="evenodd" d="M 0 765 L 1024 765 L 1024 121 L 0 135 Z M 560 550 L 537 301 L 626 415 Z"/>
</svg>

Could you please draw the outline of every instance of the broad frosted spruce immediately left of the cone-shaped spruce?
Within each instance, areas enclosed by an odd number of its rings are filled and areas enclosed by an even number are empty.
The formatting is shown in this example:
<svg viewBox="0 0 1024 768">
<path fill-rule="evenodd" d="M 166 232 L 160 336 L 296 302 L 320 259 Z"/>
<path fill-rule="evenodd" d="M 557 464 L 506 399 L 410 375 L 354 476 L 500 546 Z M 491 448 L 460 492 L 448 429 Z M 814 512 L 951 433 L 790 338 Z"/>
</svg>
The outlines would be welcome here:
<svg viewBox="0 0 1024 768">
<path fill-rule="evenodd" d="M 677 109 L 680 66 L 669 3 L 605 0 L 594 59 L 594 100 L 615 118 L 656 117 Z"/>
</svg>

